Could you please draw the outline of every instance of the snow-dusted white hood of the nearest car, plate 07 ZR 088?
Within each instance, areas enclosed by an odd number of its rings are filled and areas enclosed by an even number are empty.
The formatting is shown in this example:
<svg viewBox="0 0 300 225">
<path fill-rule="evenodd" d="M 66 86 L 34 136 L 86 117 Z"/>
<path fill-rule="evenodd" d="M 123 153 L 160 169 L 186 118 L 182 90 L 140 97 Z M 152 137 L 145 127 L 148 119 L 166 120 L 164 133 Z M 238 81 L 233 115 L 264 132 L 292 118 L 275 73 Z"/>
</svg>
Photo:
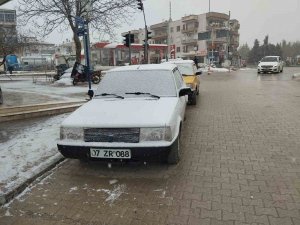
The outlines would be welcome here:
<svg viewBox="0 0 300 225">
<path fill-rule="evenodd" d="M 63 127 L 161 127 L 171 120 L 177 97 L 93 99 L 72 113 Z"/>
</svg>

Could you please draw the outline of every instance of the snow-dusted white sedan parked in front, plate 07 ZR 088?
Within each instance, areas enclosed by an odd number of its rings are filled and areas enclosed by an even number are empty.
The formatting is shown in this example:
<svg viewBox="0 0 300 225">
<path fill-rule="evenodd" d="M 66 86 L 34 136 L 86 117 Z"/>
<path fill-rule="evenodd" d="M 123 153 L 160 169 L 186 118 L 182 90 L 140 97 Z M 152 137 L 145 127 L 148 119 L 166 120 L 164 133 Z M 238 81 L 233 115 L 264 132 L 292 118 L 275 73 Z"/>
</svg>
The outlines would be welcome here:
<svg viewBox="0 0 300 225">
<path fill-rule="evenodd" d="M 190 91 L 174 64 L 110 70 L 93 99 L 61 124 L 58 150 L 67 158 L 176 164 Z"/>
</svg>

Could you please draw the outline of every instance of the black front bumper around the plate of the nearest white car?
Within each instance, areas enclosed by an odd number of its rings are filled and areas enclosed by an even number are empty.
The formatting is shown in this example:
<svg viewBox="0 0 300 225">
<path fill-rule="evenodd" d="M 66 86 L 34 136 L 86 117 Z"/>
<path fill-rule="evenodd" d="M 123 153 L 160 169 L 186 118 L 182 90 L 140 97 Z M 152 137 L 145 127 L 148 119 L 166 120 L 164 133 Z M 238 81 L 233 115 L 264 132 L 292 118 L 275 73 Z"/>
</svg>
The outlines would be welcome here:
<svg viewBox="0 0 300 225">
<path fill-rule="evenodd" d="M 60 145 L 57 144 L 58 150 L 66 158 L 74 159 L 89 159 L 91 161 L 120 161 L 121 159 L 111 159 L 111 158 L 93 158 L 90 155 L 90 147 L 88 146 L 71 146 L 71 145 Z M 166 160 L 171 146 L 167 147 L 97 147 L 97 149 L 130 149 L 131 158 L 122 159 L 122 161 L 164 161 Z"/>
</svg>

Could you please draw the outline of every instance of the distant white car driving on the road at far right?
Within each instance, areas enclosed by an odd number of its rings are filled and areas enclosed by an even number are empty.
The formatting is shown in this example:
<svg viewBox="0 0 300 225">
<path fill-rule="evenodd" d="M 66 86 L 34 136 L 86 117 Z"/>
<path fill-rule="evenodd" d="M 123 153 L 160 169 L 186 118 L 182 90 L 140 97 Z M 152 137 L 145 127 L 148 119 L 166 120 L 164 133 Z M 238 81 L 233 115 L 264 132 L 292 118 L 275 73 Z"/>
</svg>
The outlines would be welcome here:
<svg viewBox="0 0 300 225">
<path fill-rule="evenodd" d="M 283 61 L 280 56 L 265 56 L 257 66 L 257 73 L 281 73 L 283 71 Z"/>
</svg>

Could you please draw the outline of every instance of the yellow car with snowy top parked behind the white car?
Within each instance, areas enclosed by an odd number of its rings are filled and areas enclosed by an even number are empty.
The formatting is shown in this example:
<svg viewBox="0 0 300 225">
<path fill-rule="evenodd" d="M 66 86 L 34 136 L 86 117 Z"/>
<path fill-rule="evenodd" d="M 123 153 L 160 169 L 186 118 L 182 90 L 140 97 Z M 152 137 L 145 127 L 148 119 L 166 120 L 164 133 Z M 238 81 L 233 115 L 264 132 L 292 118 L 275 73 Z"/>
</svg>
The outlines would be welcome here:
<svg viewBox="0 0 300 225">
<path fill-rule="evenodd" d="M 198 70 L 193 60 L 170 60 L 165 63 L 172 63 L 177 65 L 179 71 L 183 76 L 183 80 L 188 87 L 192 89 L 189 94 L 189 103 L 191 105 L 197 104 L 197 95 L 199 95 L 201 70 Z"/>
</svg>

